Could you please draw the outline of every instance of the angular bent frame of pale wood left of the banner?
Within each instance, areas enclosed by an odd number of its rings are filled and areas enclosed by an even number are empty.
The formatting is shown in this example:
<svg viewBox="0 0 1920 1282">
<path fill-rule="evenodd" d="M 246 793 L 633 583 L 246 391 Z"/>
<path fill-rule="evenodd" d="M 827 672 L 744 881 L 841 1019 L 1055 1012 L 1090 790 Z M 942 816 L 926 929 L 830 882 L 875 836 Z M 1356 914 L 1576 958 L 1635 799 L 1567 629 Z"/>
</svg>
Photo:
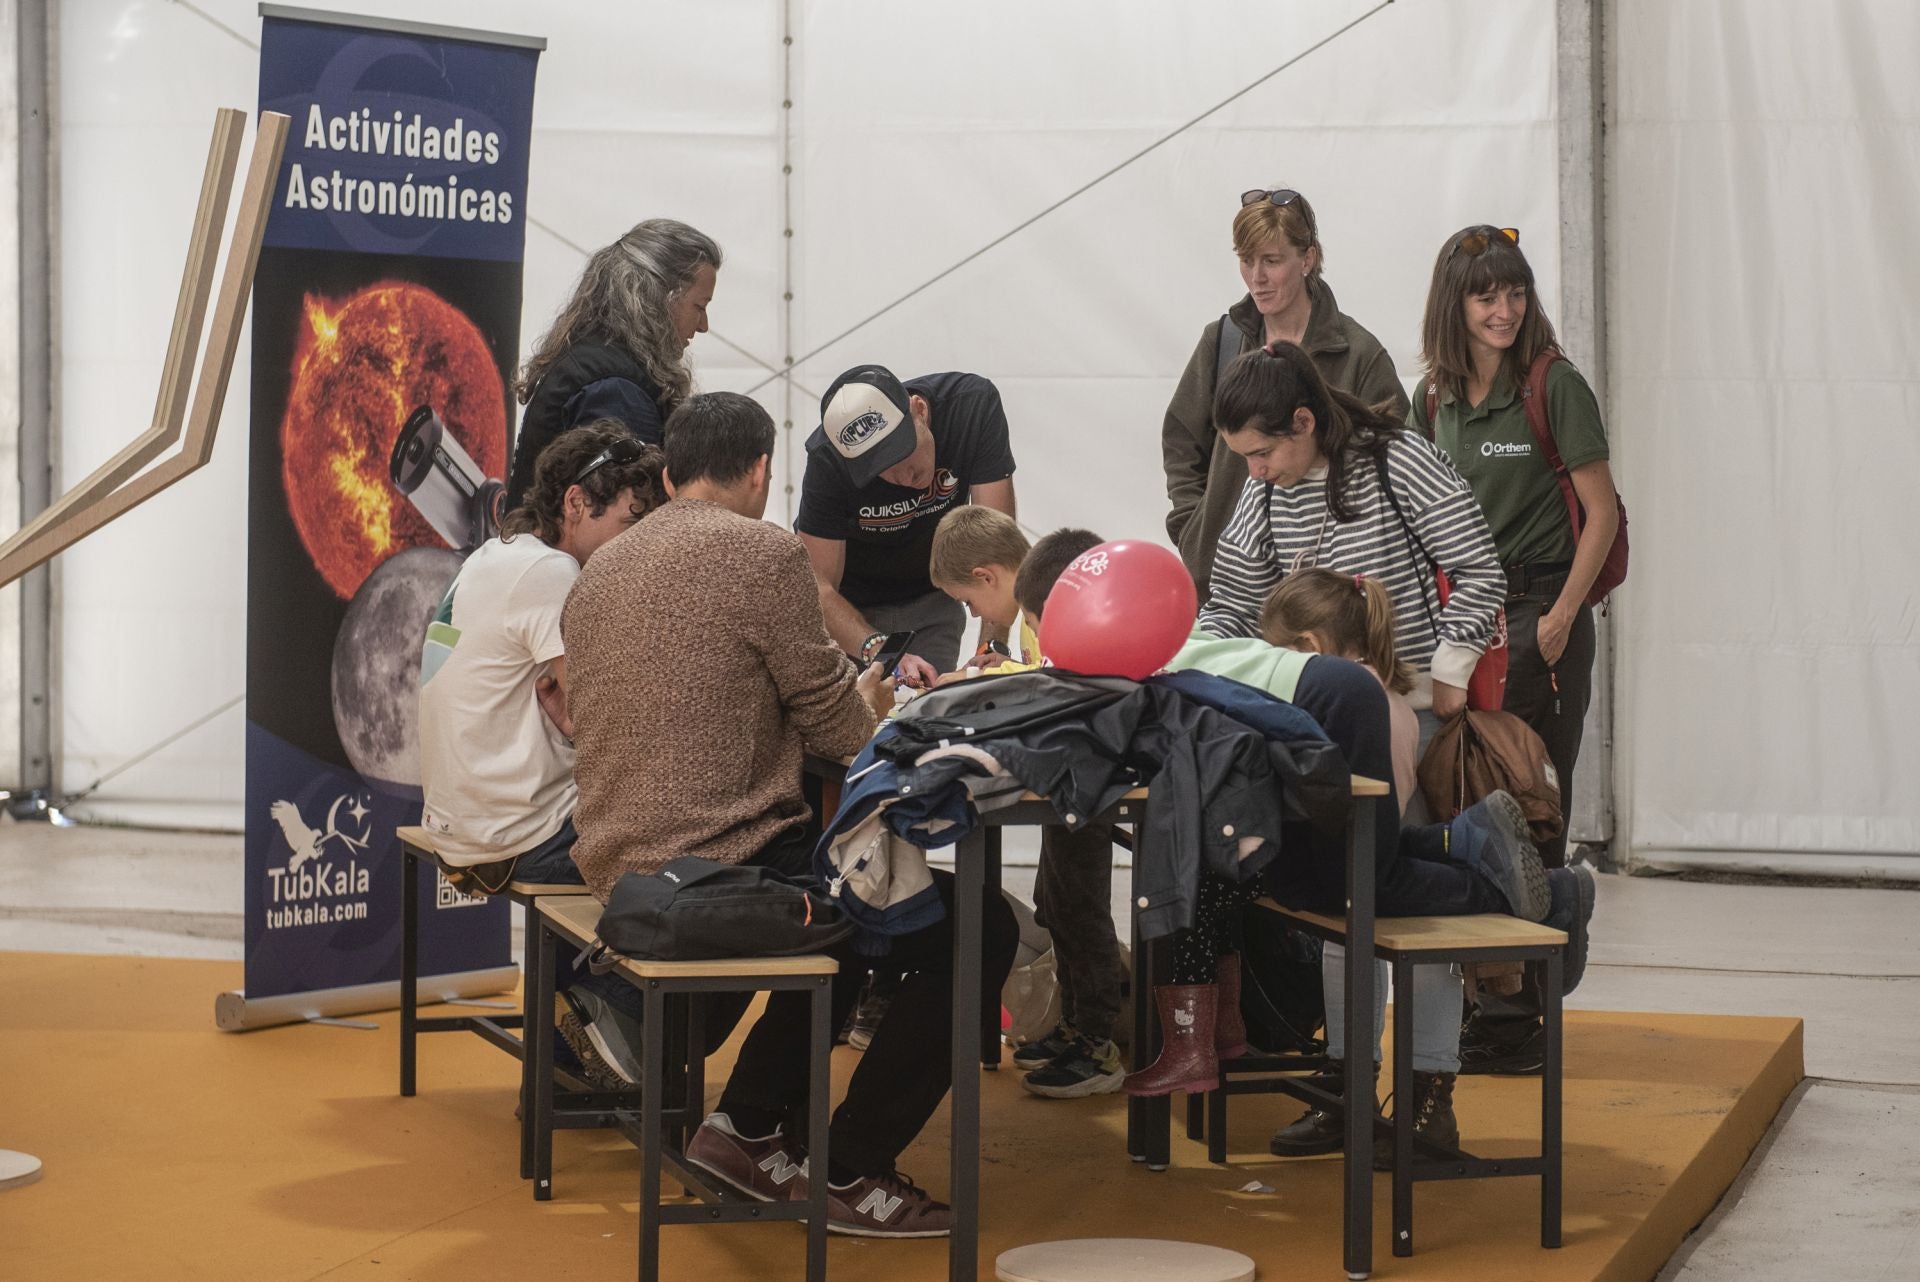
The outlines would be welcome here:
<svg viewBox="0 0 1920 1282">
<path fill-rule="evenodd" d="M 167 338 L 167 365 L 159 376 L 154 422 L 125 449 L 94 468 L 86 480 L 21 526 L 13 537 L 0 543 L 0 587 L 73 547 L 109 520 L 146 503 L 177 480 L 198 472 L 213 457 L 213 434 L 219 430 L 227 382 L 232 376 L 234 353 L 240 349 L 240 322 L 246 319 L 248 297 L 253 292 L 253 271 L 259 267 L 259 246 L 267 232 L 267 213 L 280 173 L 280 155 L 286 150 L 286 127 L 288 119 L 278 111 L 267 111 L 259 117 L 253 157 L 248 161 L 246 184 L 240 192 L 234 238 L 227 249 L 227 274 L 221 278 L 219 297 L 213 305 L 213 326 L 205 336 L 207 359 L 200 363 L 202 322 L 213 294 L 219 236 L 227 223 L 227 202 L 232 194 L 242 132 L 246 131 L 246 111 L 221 107 L 215 113 L 213 142 L 207 150 L 207 171 L 200 182 L 200 209 L 194 215 L 194 234 L 186 248 L 180 297 L 173 309 L 173 334 Z M 196 363 L 200 363 L 198 388 L 194 386 Z M 190 413 L 188 392 L 194 393 Z M 186 443 L 180 451 L 154 468 L 142 470 L 180 439 L 182 418 Z"/>
</svg>

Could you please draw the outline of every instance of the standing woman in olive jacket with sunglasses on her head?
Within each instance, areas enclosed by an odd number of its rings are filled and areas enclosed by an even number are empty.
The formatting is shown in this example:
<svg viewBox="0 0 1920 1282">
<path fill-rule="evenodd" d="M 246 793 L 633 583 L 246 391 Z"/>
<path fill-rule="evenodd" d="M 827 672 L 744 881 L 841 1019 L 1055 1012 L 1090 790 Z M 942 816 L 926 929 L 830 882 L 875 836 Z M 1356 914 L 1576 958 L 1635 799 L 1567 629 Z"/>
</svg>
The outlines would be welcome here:
<svg viewBox="0 0 1920 1282">
<path fill-rule="evenodd" d="M 1233 251 L 1246 297 L 1202 330 L 1160 428 L 1173 505 L 1167 537 L 1181 549 L 1200 601 L 1208 597 L 1219 534 L 1246 484 L 1246 461 L 1213 426 L 1213 386 L 1233 357 L 1271 342 L 1298 344 L 1334 388 L 1394 418 L 1407 413 L 1405 388 L 1380 340 L 1340 311 L 1321 278 L 1327 255 L 1306 196 L 1288 188 L 1244 192 L 1233 219 Z"/>
</svg>

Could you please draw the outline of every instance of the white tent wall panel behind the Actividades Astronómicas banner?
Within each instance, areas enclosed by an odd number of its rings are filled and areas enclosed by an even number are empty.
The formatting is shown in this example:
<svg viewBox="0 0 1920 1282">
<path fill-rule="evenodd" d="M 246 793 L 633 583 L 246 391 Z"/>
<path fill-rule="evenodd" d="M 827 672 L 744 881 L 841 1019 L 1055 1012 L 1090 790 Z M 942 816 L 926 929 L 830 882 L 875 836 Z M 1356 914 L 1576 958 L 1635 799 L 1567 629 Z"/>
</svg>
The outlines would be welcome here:
<svg viewBox="0 0 1920 1282">
<path fill-rule="evenodd" d="M 728 249 L 720 332 L 774 359 L 778 4 L 367 8 L 551 40 L 534 109 L 522 347 L 578 276 L 574 246 L 603 246 L 641 217 L 672 213 Z M 67 0 L 60 29 L 58 459 L 71 482 L 152 416 L 207 131 L 215 107 L 252 111 L 257 100 L 259 17 L 252 0 Z M 705 338 L 695 351 L 707 388 L 751 380 L 755 367 L 728 345 Z M 56 733 L 67 791 L 246 685 L 248 353 L 242 340 L 209 466 L 60 558 Z M 77 814 L 238 827 L 242 739 L 232 708 L 117 775 Z"/>
</svg>

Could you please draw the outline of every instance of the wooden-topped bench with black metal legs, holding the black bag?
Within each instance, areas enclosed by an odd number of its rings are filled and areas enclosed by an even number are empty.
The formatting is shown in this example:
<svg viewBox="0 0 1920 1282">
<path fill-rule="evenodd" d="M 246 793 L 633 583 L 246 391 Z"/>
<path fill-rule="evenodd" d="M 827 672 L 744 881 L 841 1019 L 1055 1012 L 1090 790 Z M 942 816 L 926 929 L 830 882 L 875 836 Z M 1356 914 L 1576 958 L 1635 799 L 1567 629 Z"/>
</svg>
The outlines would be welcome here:
<svg viewBox="0 0 1920 1282">
<path fill-rule="evenodd" d="M 528 915 L 528 958 L 538 977 L 536 1002 L 553 1004 L 557 948 L 589 946 L 599 935 L 601 904 L 591 898 L 543 898 Z M 718 958 L 710 962 L 637 962 L 622 958 L 612 971 L 639 988 L 645 1009 L 639 1086 L 639 1123 L 622 1113 L 620 1130 L 639 1146 L 639 1278 L 660 1276 L 662 1224 L 712 1224 L 737 1221 L 804 1221 L 806 1278 L 826 1282 L 828 1270 L 828 1098 L 833 1050 L 833 975 L 839 963 L 828 956 L 799 958 Z M 806 1134 L 814 1178 L 808 1199 L 762 1203 L 718 1184 L 705 1171 L 685 1163 L 685 1142 L 707 1107 L 705 1031 L 701 1002 L 685 1000 L 705 992 L 806 992 L 812 1025 L 808 1033 Z M 684 1015 L 670 1019 L 668 1002 L 680 1000 Z M 664 1034 L 655 1036 L 655 1031 Z M 555 1109 L 553 1021 L 534 1029 L 534 1198 L 553 1196 L 553 1130 L 568 1121 Z M 678 1079 L 678 1080 L 670 1080 Z M 670 1086 L 676 1090 L 670 1092 Z M 672 1096 L 672 1098 L 670 1098 Z M 674 1178 L 699 1205 L 660 1205 L 660 1171 Z"/>
</svg>

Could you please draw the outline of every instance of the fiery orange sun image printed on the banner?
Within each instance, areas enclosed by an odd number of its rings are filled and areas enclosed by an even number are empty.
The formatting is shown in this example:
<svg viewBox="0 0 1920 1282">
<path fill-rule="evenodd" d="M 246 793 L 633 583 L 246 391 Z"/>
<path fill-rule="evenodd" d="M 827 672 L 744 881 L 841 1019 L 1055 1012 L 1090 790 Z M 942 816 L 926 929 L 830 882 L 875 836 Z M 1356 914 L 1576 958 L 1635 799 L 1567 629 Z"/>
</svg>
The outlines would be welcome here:
<svg viewBox="0 0 1920 1282">
<path fill-rule="evenodd" d="M 445 547 L 388 472 L 407 415 L 432 405 L 480 472 L 499 478 L 507 393 L 480 328 L 424 286 L 382 280 L 338 305 L 309 294 L 305 313 L 280 474 L 301 545 L 349 601 L 394 553 Z"/>
</svg>

